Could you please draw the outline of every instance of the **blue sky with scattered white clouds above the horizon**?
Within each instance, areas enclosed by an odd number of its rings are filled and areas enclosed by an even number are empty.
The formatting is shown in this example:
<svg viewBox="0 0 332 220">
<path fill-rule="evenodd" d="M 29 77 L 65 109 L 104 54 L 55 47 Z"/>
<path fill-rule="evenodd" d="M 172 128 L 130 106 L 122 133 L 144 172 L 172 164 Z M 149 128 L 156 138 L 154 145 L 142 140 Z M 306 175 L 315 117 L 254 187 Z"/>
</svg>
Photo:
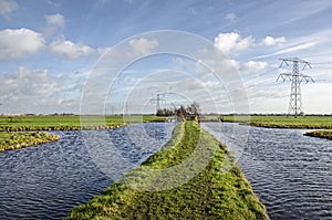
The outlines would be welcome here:
<svg viewBox="0 0 332 220">
<path fill-rule="evenodd" d="M 332 113 L 332 2 L 0 0 L 0 114 Z M 157 101 L 159 99 L 159 102 Z"/>
</svg>

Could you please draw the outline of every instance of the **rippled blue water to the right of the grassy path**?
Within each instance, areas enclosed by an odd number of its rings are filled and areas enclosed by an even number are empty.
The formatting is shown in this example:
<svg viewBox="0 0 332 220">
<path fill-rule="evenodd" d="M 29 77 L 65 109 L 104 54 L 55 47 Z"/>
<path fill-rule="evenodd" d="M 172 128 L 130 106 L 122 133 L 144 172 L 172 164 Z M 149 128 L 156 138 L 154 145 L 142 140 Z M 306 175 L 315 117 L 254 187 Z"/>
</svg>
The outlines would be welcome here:
<svg viewBox="0 0 332 220">
<path fill-rule="evenodd" d="M 301 129 L 203 124 L 236 150 L 238 165 L 271 219 L 332 219 L 332 142 Z M 245 139 L 245 138 L 243 138 Z"/>
</svg>

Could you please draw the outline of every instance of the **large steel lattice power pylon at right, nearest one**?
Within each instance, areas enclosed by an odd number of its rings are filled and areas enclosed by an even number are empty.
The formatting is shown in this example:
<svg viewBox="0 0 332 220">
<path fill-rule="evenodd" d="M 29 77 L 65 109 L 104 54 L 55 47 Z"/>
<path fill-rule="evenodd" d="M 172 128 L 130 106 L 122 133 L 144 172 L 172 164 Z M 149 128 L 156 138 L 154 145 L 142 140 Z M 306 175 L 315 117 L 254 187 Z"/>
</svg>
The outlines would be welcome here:
<svg viewBox="0 0 332 220">
<path fill-rule="evenodd" d="M 309 62 L 303 61 L 298 57 L 290 57 L 290 59 L 280 59 L 282 64 L 286 64 L 287 66 L 292 63 L 292 72 L 291 73 L 280 73 L 277 81 L 281 80 L 282 82 L 290 81 L 291 82 L 291 93 L 290 93 L 290 101 L 289 101 L 289 108 L 288 108 L 288 114 L 289 115 L 294 115 L 295 117 L 298 115 L 302 114 L 302 101 L 301 101 L 301 83 L 314 83 L 311 76 L 304 75 L 300 73 L 299 67 L 302 65 L 302 71 L 305 67 L 311 69 L 311 65 Z"/>
</svg>

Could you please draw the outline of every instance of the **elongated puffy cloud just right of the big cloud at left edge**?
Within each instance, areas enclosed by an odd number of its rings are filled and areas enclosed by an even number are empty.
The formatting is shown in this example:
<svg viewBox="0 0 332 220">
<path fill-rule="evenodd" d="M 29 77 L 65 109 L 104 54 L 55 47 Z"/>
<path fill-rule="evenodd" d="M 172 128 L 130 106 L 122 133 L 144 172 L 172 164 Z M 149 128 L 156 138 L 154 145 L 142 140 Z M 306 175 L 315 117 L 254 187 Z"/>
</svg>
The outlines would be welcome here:
<svg viewBox="0 0 332 220">
<path fill-rule="evenodd" d="M 82 43 L 73 43 L 71 41 L 58 40 L 49 45 L 51 53 L 62 59 L 79 59 L 92 55 L 95 50 Z"/>
</svg>

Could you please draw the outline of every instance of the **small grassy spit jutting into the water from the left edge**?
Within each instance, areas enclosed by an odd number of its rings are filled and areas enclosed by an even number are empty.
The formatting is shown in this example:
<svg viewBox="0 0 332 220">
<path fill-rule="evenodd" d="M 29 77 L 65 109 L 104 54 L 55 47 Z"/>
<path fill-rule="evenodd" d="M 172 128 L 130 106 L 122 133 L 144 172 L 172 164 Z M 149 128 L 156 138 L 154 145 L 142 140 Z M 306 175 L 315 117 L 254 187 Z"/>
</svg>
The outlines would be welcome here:
<svg viewBox="0 0 332 220">
<path fill-rule="evenodd" d="M 59 138 L 49 133 L 0 133 L 0 151 L 55 142 Z"/>
</svg>

